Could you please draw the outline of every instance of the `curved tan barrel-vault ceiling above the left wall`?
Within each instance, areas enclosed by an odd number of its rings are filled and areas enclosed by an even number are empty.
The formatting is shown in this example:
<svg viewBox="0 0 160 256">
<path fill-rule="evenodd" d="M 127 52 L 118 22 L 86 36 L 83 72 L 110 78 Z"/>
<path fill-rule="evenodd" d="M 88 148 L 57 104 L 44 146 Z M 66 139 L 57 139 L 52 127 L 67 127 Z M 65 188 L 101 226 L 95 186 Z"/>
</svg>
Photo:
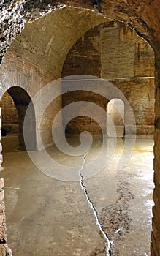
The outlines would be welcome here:
<svg viewBox="0 0 160 256">
<path fill-rule="evenodd" d="M 26 23 L 9 49 L 59 76 L 66 55 L 77 39 L 107 20 L 91 10 L 64 7 Z"/>
</svg>

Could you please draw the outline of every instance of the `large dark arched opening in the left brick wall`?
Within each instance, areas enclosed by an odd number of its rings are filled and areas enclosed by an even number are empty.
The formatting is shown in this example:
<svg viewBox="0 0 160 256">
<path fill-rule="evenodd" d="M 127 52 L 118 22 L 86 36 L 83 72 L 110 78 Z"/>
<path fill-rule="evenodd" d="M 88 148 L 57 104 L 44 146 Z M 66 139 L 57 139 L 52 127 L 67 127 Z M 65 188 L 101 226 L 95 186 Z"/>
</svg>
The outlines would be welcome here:
<svg viewBox="0 0 160 256">
<path fill-rule="evenodd" d="M 31 102 L 31 97 L 28 93 L 20 88 L 19 86 L 13 86 L 9 88 L 3 95 L 1 101 L 2 107 L 2 128 L 4 128 L 8 133 L 17 134 L 18 138 L 14 136 L 7 140 L 7 151 L 24 151 L 26 150 L 24 137 L 23 137 L 23 122 L 26 114 L 28 105 L 30 108 L 27 137 L 29 140 L 30 150 L 36 148 L 36 134 L 35 134 L 35 114 L 34 114 L 34 105 Z M 2 146 L 5 140 L 2 140 Z M 4 148 L 5 145 L 4 145 Z"/>
</svg>

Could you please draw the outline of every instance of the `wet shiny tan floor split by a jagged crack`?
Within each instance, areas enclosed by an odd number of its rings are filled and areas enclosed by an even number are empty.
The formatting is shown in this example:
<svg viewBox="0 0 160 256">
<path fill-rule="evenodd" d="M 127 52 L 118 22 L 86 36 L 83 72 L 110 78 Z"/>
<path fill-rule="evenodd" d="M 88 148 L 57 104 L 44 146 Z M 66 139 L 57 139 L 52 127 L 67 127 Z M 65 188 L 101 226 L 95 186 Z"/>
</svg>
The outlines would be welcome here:
<svg viewBox="0 0 160 256">
<path fill-rule="evenodd" d="M 9 140 L 12 146 L 9 147 Z M 8 244 L 16 256 L 107 255 L 104 236 L 96 225 L 80 181 L 58 181 L 31 162 L 27 152 L 15 152 L 16 138 L 3 138 L 5 203 Z M 75 138 L 70 139 L 75 145 Z M 94 159 L 98 138 L 85 157 Z M 96 176 L 83 181 L 99 222 L 111 244 L 110 255 L 150 255 L 153 205 L 153 140 L 137 139 L 132 157 L 121 170 L 116 164 L 123 140 L 113 159 Z M 6 151 L 6 153 L 5 153 Z M 13 151 L 13 152 L 9 152 Z M 83 157 L 69 157 L 55 146 L 50 155 L 66 165 L 83 166 Z"/>
</svg>

